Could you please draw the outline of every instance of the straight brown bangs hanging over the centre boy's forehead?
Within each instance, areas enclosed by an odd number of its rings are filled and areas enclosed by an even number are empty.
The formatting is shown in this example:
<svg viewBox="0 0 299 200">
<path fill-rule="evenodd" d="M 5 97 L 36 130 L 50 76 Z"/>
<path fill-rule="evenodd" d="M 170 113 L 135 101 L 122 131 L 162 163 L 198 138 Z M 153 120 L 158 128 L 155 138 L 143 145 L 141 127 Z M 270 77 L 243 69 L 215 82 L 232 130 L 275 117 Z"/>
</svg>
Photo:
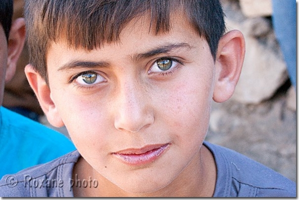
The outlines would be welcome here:
<svg viewBox="0 0 299 200">
<path fill-rule="evenodd" d="M 150 14 L 149 31 L 156 35 L 168 32 L 170 10 L 169 0 L 110 0 L 110 1 L 50 1 L 45 10 L 43 27 L 49 41 L 66 40 L 69 47 L 92 50 L 104 43 L 119 41 L 122 29 L 133 19 Z M 84 7 L 85 9 L 82 9 Z M 121 11 L 121 12 L 120 12 Z"/>
</svg>

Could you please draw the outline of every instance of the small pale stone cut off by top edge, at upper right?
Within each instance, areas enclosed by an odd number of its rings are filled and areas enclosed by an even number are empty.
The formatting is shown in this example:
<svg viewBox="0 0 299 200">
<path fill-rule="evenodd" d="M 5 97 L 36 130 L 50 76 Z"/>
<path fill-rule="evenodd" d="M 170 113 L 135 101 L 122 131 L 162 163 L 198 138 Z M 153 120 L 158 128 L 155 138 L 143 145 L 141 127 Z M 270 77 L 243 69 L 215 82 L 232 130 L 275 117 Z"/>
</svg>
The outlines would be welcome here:
<svg viewBox="0 0 299 200">
<path fill-rule="evenodd" d="M 272 14 L 271 0 L 240 0 L 240 6 L 247 17 L 270 16 Z"/>
</svg>

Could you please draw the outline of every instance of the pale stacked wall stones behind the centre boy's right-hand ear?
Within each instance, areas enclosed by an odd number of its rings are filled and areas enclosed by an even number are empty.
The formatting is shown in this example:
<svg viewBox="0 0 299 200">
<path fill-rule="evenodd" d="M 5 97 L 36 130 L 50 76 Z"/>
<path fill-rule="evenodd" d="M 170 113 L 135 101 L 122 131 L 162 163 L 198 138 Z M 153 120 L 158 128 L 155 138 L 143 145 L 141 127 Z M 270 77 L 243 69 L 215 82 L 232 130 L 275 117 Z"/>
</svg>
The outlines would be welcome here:
<svg viewBox="0 0 299 200">
<path fill-rule="evenodd" d="M 271 0 L 221 2 L 227 30 L 240 30 L 246 41 L 244 65 L 232 99 L 245 104 L 258 104 L 270 99 L 289 79 L 272 27 Z"/>
</svg>

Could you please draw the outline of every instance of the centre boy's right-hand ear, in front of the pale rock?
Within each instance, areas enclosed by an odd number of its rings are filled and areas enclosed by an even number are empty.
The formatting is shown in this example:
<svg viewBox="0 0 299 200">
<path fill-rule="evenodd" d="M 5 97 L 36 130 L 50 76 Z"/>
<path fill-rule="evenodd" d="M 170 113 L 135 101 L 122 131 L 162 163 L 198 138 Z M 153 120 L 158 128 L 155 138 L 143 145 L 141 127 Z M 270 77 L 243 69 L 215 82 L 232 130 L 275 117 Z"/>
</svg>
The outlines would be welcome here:
<svg viewBox="0 0 299 200">
<path fill-rule="evenodd" d="M 230 31 L 219 40 L 215 60 L 215 102 L 224 102 L 233 95 L 240 78 L 244 56 L 245 40 L 240 31 Z"/>
</svg>

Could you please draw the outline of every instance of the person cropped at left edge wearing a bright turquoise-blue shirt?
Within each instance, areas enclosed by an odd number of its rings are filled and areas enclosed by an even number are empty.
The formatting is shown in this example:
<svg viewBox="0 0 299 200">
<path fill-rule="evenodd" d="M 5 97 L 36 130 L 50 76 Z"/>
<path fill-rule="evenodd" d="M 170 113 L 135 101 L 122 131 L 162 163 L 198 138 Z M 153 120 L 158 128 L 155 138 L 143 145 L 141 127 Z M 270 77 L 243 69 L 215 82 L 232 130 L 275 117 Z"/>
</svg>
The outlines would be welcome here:
<svg viewBox="0 0 299 200">
<path fill-rule="evenodd" d="M 11 22 L 12 0 L 0 1 L 0 105 L 4 83 L 15 72 L 25 40 L 25 21 Z M 45 163 L 75 149 L 61 133 L 0 107 L 0 177 Z"/>
</svg>

